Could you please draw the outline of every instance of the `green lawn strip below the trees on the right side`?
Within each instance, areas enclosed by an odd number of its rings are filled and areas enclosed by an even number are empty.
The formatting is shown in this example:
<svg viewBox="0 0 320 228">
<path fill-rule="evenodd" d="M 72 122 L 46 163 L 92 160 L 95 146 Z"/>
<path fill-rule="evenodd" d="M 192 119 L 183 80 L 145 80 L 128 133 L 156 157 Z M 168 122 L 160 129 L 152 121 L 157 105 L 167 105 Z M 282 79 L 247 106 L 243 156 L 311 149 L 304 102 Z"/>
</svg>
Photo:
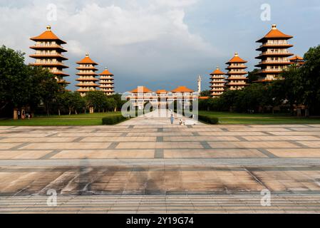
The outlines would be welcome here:
<svg viewBox="0 0 320 228">
<path fill-rule="evenodd" d="M 285 114 L 242 114 L 200 111 L 219 118 L 220 124 L 320 124 L 320 118 L 296 118 Z"/>
</svg>

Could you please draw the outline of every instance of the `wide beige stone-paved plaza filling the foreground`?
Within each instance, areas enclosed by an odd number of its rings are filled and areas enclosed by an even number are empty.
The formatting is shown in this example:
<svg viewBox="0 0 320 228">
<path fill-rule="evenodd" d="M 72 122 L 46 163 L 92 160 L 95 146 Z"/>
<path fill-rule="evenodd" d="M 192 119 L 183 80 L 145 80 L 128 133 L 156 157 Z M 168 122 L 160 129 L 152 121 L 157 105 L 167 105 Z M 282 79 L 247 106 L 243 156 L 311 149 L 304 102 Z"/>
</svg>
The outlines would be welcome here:
<svg viewBox="0 0 320 228">
<path fill-rule="evenodd" d="M 0 127 L 0 212 L 320 212 L 320 125 L 148 118 Z"/>
</svg>

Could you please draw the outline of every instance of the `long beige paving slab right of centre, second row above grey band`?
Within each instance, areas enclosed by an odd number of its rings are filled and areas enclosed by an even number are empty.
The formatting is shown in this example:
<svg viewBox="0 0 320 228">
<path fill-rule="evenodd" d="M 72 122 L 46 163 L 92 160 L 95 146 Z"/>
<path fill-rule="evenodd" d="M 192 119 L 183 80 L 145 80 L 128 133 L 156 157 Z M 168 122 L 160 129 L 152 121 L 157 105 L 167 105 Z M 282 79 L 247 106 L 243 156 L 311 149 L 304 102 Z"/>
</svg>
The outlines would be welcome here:
<svg viewBox="0 0 320 228">
<path fill-rule="evenodd" d="M 299 148 L 291 142 L 264 141 L 264 142 L 208 142 L 212 148 Z"/>
</svg>

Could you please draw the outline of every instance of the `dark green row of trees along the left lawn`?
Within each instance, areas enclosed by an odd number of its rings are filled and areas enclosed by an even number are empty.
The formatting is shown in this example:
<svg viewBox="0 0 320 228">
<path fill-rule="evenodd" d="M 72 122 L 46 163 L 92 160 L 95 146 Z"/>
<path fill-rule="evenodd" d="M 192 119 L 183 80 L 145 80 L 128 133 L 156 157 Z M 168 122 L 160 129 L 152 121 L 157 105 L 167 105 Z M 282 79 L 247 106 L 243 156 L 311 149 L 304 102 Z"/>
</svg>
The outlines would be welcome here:
<svg viewBox="0 0 320 228">
<path fill-rule="evenodd" d="M 24 54 L 11 48 L 0 48 L 0 116 L 12 116 L 16 108 L 34 113 L 86 113 L 89 108 L 98 112 L 120 110 L 121 96 L 107 96 L 102 91 L 91 91 L 86 97 L 71 92 L 58 84 L 47 69 L 24 63 Z"/>
</svg>

